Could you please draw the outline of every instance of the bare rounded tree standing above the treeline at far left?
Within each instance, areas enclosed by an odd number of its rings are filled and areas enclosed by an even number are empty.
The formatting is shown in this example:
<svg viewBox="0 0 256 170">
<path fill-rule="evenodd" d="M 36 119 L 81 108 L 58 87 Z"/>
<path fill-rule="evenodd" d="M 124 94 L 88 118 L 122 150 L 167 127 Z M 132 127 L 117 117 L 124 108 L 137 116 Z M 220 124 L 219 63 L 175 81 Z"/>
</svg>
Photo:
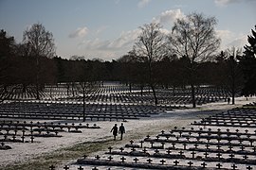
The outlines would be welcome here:
<svg viewBox="0 0 256 170">
<path fill-rule="evenodd" d="M 55 55 L 55 44 L 53 35 L 46 31 L 42 24 L 34 24 L 24 31 L 23 42 L 27 43 L 29 56 L 36 59 L 36 98 L 40 99 L 39 95 L 39 80 L 40 80 L 40 58 L 53 58 Z"/>
</svg>

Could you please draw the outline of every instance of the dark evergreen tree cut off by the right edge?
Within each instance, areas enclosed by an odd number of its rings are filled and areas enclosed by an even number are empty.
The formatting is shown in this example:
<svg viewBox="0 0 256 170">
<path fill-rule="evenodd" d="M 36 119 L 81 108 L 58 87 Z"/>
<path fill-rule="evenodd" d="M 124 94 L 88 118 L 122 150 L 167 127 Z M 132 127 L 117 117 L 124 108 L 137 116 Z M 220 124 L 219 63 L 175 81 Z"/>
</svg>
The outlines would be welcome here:
<svg viewBox="0 0 256 170">
<path fill-rule="evenodd" d="M 256 94 L 256 26 L 255 30 L 251 29 L 251 33 L 252 35 L 247 37 L 249 44 L 244 46 L 244 56 L 240 60 L 245 78 L 242 93 L 246 96 Z"/>
</svg>

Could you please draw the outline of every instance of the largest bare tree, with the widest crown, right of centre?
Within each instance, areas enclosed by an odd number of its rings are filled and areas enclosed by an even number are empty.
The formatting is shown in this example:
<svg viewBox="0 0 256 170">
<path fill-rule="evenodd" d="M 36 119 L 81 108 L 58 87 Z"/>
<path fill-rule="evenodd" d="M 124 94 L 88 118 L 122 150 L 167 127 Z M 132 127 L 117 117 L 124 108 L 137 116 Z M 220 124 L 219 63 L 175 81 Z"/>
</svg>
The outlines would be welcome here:
<svg viewBox="0 0 256 170">
<path fill-rule="evenodd" d="M 217 24 L 214 17 L 192 13 L 185 18 L 177 19 L 173 26 L 169 42 L 174 54 L 189 59 L 186 66 L 191 74 L 189 83 L 192 88 L 192 107 L 195 108 L 194 85 L 197 63 L 212 59 L 213 53 L 220 45 L 214 26 Z"/>
</svg>

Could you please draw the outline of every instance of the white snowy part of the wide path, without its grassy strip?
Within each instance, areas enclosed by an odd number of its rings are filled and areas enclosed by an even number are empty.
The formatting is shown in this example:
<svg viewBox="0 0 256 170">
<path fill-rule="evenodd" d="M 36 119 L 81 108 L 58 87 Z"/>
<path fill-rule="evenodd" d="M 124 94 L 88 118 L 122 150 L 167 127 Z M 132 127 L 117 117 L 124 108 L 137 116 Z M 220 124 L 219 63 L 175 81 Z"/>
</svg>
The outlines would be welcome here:
<svg viewBox="0 0 256 170">
<path fill-rule="evenodd" d="M 236 98 L 235 105 L 228 105 L 226 102 L 210 103 L 199 106 L 196 109 L 174 110 L 167 113 L 157 114 L 149 118 L 128 120 L 127 122 L 124 122 L 126 133 L 121 145 L 127 144 L 130 140 L 138 140 L 134 138 L 137 138 L 138 136 L 141 138 L 141 135 L 145 137 L 147 134 L 158 134 L 161 130 L 170 130 L 174 126 L 185 127 L 190 125 L 190 123 L 192 123 L 194 120 L 200 120 L 202 116 L 207 116 L 208 114 L 210 115 L 220 110 L 229 110 L 234 107 L 240 107 L 255 101 L 256 97 L 248 98 L 248 100 L 245 97 L 239 97 Z M 81 122 L 77 121 L 75 123 Z M 4 167 L 8 166 L 9 164 L 27 161 L 44 153 L 52 152 L 56 149 L 74 144 L 111 139 L 112 133 L 110 133 L 110 129 L 114 126 L 114 124 L 117 123 L 119 125 L 121 122 L 87 121 L 84 123 L 84 125 L 87 123 L 90 125 L 96 123 L 97 126 L 101 128 L 83 128 L 82 133 L 64 132 L 61 133 L 61 135 L 63 135 L 61 138 L 35 138 L 35 142 L 32 144 L 6 143 L 9 144 L 12 149 L 0 150 L 0 165 Z"/>
</svg>

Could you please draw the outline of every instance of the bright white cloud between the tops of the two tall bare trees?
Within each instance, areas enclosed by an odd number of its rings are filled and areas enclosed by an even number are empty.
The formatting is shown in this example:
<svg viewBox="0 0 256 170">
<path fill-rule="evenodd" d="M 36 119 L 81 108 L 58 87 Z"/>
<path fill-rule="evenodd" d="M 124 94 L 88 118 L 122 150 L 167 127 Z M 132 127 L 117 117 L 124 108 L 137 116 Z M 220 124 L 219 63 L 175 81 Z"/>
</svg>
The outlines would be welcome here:
<svg viewBox="0 0 256 170">
<path fill-rule="evenodd" d="M 163 26 L 172 26 L 176 19 L 185 17 L 180 8 L 170 9 L 162 12 L 159 16 L 153 18 L 153 21 Z"/>
</svg>

